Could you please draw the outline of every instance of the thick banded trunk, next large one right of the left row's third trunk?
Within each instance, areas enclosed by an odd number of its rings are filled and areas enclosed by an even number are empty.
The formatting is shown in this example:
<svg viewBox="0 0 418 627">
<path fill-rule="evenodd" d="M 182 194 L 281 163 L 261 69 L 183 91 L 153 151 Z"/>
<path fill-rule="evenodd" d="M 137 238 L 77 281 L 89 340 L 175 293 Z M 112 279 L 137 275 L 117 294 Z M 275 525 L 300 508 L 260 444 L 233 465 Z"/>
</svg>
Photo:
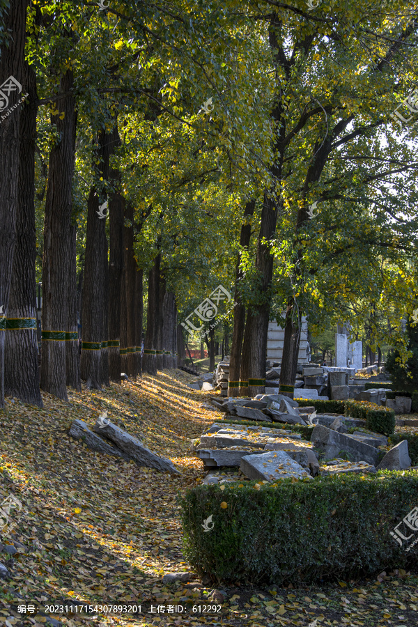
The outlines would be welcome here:
<svg viewBox="0 0 418 627">
<path fill-rule="evenodd" d="M 98 146 L 93 150 L 93 161 L 100 160 L 98 167 L 104 180 L 109 178 L 110 136 L 100 131 Z M 99 196 L 100 194 L 100 196 Z M 84 263 L 83 286 L 83 329 L 82 329 L 82 378 L 87 386 L 101 389 L 104 380 L 102 359 L 107 359 L 107 328 L 104 315 L 108 307 L 106 293 L 107 279 L 107 238 L 106 238 L 106 202 L 104 194 L 93 185 L 87 202 L 86 256 Z M 99 210 L 100 207 L 100 210 Z"/>
</svg>

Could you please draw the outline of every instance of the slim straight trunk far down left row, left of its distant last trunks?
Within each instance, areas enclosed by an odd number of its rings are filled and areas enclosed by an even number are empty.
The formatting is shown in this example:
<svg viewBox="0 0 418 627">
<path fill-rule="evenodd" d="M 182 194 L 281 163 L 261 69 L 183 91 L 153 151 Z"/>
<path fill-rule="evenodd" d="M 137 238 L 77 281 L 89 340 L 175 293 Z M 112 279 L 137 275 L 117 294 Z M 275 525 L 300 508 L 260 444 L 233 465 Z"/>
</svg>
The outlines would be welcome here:
<svg viewBox="0 0 418 627">
<path fill-rule="evenodd" d="M 153 268 L 148 274 L 148 310 L 144 348 L 144 369 L 157 374 L 157 347 L 155 346 L 160 325 L 160 262 L 161 255 L 155 257 Z"/>
</svg>

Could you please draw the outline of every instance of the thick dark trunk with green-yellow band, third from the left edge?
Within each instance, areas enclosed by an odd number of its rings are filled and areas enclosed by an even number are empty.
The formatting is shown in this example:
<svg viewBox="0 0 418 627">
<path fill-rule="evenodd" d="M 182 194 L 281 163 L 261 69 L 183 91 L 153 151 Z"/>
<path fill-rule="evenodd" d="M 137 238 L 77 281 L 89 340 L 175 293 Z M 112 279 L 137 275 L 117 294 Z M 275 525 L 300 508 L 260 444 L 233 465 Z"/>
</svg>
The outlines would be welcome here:
<svg viewBox="0 0 418 627">
<path fill-rule="evenodd" d="M 72 71 L 68 70 L 61 78 L 61 93 L 71 93 L 72 85 Z M 70 280 L 75 280 L 75 272 L 72 272 L 75 259 L 70 258 L 68 245 L 73 233 L 72 176 L 77 127 L 75 98 L 72 95 L 60 98 L 56 108 L 59 114 L 51 118 L 52 124 L 56 125 L 57 137 L 49 155 L 45 202 L 40 386 L 45 392 L 67 401 L 65 339 L 71 338 L 67 326 L 69 300 L 75 297 L 75 290 L 70 286 Z"/>
</svg>

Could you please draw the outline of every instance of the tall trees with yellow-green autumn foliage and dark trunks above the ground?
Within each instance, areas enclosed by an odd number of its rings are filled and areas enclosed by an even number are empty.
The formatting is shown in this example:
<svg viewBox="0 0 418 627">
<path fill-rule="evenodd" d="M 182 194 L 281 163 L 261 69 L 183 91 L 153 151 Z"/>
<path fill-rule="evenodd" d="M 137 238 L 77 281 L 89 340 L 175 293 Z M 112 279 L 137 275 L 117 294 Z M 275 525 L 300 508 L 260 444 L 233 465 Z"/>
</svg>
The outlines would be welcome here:
<svg viewBox="0 0 418 627">
<path fill-rule="evenodd" d="M 288 394 L 302 314 L 401 338 L 416 128 L 401 141 L 388 115 L 416 79 L 408 2 L 0 0 L 0 23 L 0 92 L 28 93 L 0 123 L 0 405 L 174 366 L 219 284 L 231 396 L 263 391 L 283 312 Z"/>
</svg>

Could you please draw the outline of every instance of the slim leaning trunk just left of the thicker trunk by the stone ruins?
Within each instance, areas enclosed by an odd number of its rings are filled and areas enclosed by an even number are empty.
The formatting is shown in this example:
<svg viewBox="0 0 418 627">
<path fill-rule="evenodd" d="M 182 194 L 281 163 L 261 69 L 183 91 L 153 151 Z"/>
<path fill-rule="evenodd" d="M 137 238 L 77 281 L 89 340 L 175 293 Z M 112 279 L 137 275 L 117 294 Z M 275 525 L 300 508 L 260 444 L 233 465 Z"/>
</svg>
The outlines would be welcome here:
<svg viewBox="0 0 418 627">
<path fill-rule="evenodd" d="M 251 238 L 251 224 L 249 223 L 249 217 L 254 214 L 254 208 L 256 201 L 251 200 L 245 205 L 244 220 L 241 226 L 240 234 L 240 247 L 241 249 L 247 249 L 249 247 L 249 240 Z M 240 256 L 238 254 L 237 264 L 235 267 L 235 307 L 233 309 L 233 334 L 232 334 L 232 346 L 231 346 L 231 359 L 229 362 L 229 382 L 228 382 L 228 396 L 240 395 L 240 370 L 241 370 L 241 351 L 242 340 L 244 339 L 245 330 L 245 305 L 241 302 L 240 294 L 240 282 L 242 281 L 242 270 L 240 268 Z M 247 385 L 242 388 L 247 389 Z"/>
</svg>

